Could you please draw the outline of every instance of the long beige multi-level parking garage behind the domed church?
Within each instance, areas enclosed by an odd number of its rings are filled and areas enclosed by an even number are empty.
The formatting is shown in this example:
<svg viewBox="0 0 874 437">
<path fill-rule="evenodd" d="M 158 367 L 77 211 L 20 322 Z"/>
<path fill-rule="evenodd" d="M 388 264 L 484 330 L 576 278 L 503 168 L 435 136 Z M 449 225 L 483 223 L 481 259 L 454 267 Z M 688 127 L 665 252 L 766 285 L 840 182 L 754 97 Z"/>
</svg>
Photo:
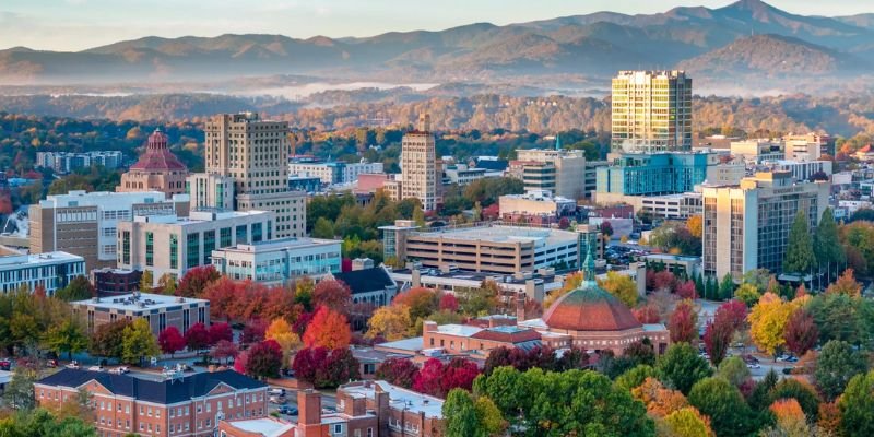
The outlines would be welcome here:
<svg viewBox="0 0 874 437">
<path fill-rule="evenodd" d="M 481 224 L 395 234 L 397 258 L 423 267 L 513 274 L 577 264 L 577 233 L 540 227 Z"/>
</svg>

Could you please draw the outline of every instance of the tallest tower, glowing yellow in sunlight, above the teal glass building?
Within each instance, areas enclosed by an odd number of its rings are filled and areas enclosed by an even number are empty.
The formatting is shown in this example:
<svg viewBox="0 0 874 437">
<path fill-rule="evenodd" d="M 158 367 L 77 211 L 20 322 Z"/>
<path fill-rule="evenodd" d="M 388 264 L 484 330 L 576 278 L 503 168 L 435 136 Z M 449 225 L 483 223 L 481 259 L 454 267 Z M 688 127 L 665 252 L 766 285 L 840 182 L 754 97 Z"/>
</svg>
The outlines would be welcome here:
<svg viewBox="0 0 874 437">
<path fill-rule="evenodd" d="M 621 71 L 613 79 L 613 151 L 692 149 L 692 79 L 683 71 Z"/>
</svg>

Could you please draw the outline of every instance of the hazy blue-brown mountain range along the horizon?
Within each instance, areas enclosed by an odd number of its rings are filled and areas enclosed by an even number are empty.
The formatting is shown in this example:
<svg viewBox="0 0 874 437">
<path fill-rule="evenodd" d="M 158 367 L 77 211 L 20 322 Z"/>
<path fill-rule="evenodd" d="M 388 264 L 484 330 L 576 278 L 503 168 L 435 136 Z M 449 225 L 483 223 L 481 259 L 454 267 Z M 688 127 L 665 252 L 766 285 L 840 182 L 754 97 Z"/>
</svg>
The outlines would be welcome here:
<svg viewBox="0 0 874 437">
<path fill-rule="evenodd" d="M 0 50 L 0 84 L 158 83 L 272 74 L 399 83 L 579 83 L 601 81 L 622 69 L 674 68 L 704 82 L 749 83 L 859 78 L 872 66 L 874 14 L 805 16 L 760 0 L 741 0 L 718 9 L 599 12 L 363 38 L 228 34 L 149 36 L 76 52 L 14 47 Z"/>
</svg>

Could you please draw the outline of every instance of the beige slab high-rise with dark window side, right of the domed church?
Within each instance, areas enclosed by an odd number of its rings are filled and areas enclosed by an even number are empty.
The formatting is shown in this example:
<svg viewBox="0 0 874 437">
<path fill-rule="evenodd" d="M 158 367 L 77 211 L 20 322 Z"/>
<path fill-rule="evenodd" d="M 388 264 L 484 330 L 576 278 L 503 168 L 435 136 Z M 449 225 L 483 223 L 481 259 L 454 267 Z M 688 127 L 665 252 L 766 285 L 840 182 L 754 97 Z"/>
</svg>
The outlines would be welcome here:
<svg viewBox="0 0 874 437">
<path fill-rule="evenodd" d="M 757 173 L 735 186 L 705 186 L 704 271 L 735 280 L 754 269 L 782 271 L 789 229 L 804 211 L 811 232 L 828 206 L 830 184 L 796 180 L 790 172 Z"/>
</svg>

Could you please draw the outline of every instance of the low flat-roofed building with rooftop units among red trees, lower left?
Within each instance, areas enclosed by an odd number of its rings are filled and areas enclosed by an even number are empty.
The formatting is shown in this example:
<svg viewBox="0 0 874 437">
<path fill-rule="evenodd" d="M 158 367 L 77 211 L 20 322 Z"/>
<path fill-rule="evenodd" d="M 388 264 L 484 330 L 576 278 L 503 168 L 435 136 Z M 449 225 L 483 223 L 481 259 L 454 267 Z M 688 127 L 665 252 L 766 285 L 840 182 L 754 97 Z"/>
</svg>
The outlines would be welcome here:
<svg viewBox="0 0 874 437">
<path fill-rule="evenodd" d="M 193 297 L 131 292 L 71 302 L 70 306 L 85 321 L 88 333 L 121 319 L 145 319 L 155 336 L 167 327 L 176 327 L 185 334 L 192 324 L 210 326 L 210 302 Z"/>
</svg>

